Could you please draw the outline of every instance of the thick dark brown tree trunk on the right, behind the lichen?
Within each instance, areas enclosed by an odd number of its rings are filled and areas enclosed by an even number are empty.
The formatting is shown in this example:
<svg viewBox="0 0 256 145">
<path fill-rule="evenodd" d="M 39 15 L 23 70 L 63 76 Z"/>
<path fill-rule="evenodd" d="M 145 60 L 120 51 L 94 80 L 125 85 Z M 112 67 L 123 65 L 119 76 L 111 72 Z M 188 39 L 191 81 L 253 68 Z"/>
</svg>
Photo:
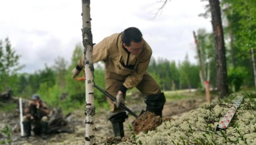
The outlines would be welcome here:
<svg viewBox="0 0 256 145">
<path fill-rule="evenodd" d="M 226 50 L 224 46 L 224 35 L 221 21 L 221 9 L 219 0 L 209 0 L 211 16 L 212 16 L 212 29 L 215 39 L 215 59 L 217 68 L 217 86 L 218 98 L 223 99 L 228 96 L 227 84 L 227 66 L 226 66 Z"/>
</svg>

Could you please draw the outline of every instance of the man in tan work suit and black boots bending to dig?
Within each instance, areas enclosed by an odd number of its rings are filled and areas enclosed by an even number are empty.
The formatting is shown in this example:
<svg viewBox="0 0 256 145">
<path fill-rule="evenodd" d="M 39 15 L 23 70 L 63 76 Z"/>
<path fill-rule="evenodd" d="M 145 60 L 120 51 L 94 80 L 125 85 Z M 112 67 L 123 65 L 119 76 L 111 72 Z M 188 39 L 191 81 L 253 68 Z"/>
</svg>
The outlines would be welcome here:
<svg viewBox="0 0 256 145">
<path fill-rule="evenodd" d="M 129 27 L 121 33 L 112 34 L 93 46 L 93 63 L 105 62 L 106 92 L 116 98 L 108 98 L 111 110 L 108 120 L 115 136 L 124 137 L 123 122 L 128 118 L 120 103 L 125 104 L 126 90 L 136 87 L 145 96 L 146 111 L 162 117 L 166 102 L 160 86 L 147 72 L 152 55 L 151 47 L 143 39 L 139 29 Z M 73 69 L 75 78 L 84 68 L 84 56 Z"/>
</svg>

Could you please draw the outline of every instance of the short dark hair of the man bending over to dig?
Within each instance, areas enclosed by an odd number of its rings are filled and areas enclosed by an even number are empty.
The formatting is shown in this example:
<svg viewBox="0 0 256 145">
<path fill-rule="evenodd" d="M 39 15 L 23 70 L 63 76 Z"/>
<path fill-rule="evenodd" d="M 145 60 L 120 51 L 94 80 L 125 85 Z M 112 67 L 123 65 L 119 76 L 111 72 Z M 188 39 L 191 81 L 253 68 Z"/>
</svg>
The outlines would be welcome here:
<svg viewBox="0 0 256 145">
<path fill-rule="evenodd" d="M 122 42 L 126 46 L 130 46 L 131 41 L 134 41 L 136 43 L 142 41 L 142 33 L 136 27 L 129 27 L 129 28 L 125 29 L 122 34 Z"/>
</svg>

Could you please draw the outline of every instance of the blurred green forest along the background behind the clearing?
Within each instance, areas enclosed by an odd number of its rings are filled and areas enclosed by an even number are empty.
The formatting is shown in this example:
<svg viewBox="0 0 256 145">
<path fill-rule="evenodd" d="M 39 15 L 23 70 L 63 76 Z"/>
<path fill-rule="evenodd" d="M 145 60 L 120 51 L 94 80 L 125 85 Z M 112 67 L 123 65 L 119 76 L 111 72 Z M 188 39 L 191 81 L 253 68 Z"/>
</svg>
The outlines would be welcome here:
<svg viewBox="0 0 256 145">
<path fill-rule="evenodd" d="M 250 3 L 248 5 L 247 3 Z M 222 22 L 227 58 L 227 76 L 230 92 L 255 89 L 255 46 L 256 42 L 256 1 L 222 0 Z M 210 17 L 209 6 L 201 17 Z M 216 63 L 213 35 L 204 28 L 191 32 L 195 37 L 195 57 L 198 64 L 191 64 L 188 54 L 183 61 L 175 63 L 171 58 L 151 58 L 148 72 L 158 81 L 163 91 L 182 89 L 204 90 L 204 81 L 216 88 Z M 0 92 L 12 89 L 14 96 L 30 98 L 38 93 L 49 105 L 71 108 L 84 106 L 84 81 L 71 78 L 72 70 L 83 55 L 83 47 L 76 45 L 71 60 L 62 56 L 55 59 L 55 64 L 45 64 L 43 70 L 35 73 L 19 73 L 24 67 L 20 64 L 21 55 L 12 46 L 12 40 L 0 41 Z M 169 52 L 170 55 L 172 52 Z M 36 54 L 35 54 L 36 55 Z M 36 63 L 36 62 L 35 62 Z M 220 64 L 221 65 L 221 64 Z M 82 76 L 81 73 L 79 76 Z M 105 89 L 105 72 L 102 65 L 95 64 L 94 80 Z M 136 89 L 129 90 L 130 92 Z M 96 108 L 99 104 L 108 107 L 106 97 L 95 89 Z M 77 104 L 77 105 L 76 105 Z"/>
</svg>

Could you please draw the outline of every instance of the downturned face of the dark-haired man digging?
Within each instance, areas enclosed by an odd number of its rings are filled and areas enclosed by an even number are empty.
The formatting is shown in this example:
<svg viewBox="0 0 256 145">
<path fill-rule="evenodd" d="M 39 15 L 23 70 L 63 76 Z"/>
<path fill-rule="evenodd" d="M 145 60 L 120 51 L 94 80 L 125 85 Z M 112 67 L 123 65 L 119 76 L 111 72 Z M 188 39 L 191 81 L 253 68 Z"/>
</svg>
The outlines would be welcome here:
<svg viewBox="0 0 256 145">
<path fill-rule="evenodd" d="M 142 39 L 142 41 L 140 42 L 134 42 L 134 41 L 131 41 L 131 45 L 130 46 L 127 46 L 125 44 L 123 44 L 123 46 L 129 51 L 131 52 L 131 54 L 133 55 L 139 55 L 142 50 L 144 49 L 145 47 L 145 43 L 144 43 L 144 40 Z"/>
</svg>

